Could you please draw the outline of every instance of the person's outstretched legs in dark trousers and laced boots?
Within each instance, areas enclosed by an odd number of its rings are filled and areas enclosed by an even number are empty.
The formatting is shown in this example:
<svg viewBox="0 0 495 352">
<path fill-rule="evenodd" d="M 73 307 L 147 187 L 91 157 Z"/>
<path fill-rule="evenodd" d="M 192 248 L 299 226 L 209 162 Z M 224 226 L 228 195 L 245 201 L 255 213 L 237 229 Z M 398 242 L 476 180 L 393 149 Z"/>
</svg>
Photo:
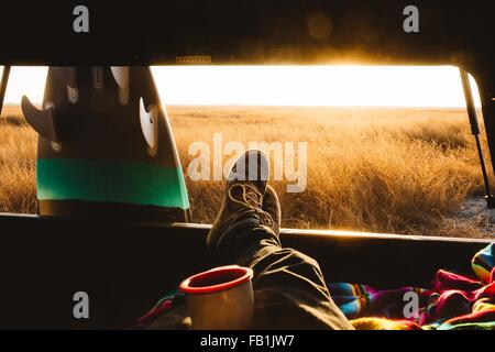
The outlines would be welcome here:
<svg viewBox="0 0 495 352">
<path fill-rule="evenodd" d="M 257 163 L 249 163 L 246 155 L 253 154 Z M 353 329 L 332 301 L 318 263 L 282 248 L 280 208 L 275 190 L 266 184 L 266 157 L 251 151 L 235 165 L 245 165 L 245 175 L 258 178 L 233 179 L 234 166 L 207 243 L 221 262 L 253 270 L 253 328 Z"/>
</svg>

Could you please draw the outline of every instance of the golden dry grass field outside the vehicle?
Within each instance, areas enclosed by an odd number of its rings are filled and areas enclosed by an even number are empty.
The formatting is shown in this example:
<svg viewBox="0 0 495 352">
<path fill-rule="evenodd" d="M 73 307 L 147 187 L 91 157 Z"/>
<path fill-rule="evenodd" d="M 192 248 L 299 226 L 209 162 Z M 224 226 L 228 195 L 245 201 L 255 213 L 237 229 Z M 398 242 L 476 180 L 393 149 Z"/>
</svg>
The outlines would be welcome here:
<svg viewBox="0 0 495 352">
<path fill-rule="evenodd" d="M 274 182 L 283 226 L 404 234 L 490 237 L 476 223 L 449 221 L 483 186 L 463 110 L 169 107 L 184 169 L 195 141 L 307 142 L 304 193 Z M 0 211 L 35 212 L 36 136 L 19 109 L 0 119 Z M 488 161 L 490 162 L 490 161 Z M 211 222 L 221 182 L 186 177 L 193 217 Z"/>
</svg>

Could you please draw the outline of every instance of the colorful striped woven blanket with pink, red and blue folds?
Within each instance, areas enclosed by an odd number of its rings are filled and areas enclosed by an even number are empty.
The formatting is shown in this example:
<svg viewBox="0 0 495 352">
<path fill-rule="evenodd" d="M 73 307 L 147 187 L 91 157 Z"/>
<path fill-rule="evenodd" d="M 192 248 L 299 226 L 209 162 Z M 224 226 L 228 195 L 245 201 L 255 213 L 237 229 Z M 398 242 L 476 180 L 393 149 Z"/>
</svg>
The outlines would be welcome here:
<svg viewBox="0 0 495 352">
<path fill-rule="evenodd" d="M 328 288 L 358 330 L 495 330 L 494 258 L 492 243 L 474 255 L 472 277 L 441 270 L 429 288 L 376 289 L 346 283 L 332 283 Z M 415 299 L 416 309 L 406 309 Z M 183 304 L 182 294 L 169 292 L 136 328 L 146 328 L 157 316 Z"/>
</svg>

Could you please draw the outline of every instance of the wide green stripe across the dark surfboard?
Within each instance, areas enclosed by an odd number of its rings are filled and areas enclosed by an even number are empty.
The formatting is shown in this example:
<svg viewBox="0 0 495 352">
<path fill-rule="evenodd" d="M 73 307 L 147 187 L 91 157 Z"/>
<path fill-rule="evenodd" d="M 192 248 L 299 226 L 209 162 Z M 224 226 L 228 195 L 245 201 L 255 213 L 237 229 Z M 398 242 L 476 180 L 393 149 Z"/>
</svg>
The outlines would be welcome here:
<svg viewBox="0 0 495 352">
<path fill-rule="evenodd" d="M 179 167 L 38 158 L 36 178 L 40 200 L 78 199 L 189 208 Z"/>
</svg>

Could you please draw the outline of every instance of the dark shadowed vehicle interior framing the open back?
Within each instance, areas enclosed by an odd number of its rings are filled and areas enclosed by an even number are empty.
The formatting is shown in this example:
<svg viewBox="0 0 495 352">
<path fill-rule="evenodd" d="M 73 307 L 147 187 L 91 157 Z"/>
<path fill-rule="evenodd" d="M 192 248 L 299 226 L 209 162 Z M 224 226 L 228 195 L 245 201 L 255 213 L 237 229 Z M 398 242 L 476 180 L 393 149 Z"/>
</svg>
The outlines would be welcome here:
<svg viewBox="0 0 495 352">
<path fill-rule="evenodd" d="M 96 41 L 94 32 L 84 38 L 65 34 L 66 23 L 45 25 L 47 18 L 70 11 L 68 6 L 57 4 L 52 13 L 34 4 L 26 13 L 20 3 L 14 6 L 19 13 L 38 30 L 30 45 L 22 35 L 3 40 L 10 50 L 1 54 L 0 63 L 176 65 L 186 57 L 195 65 L 209 57 L 215 65 L 454 65 L 477 82 L 492 154 L 486 167 L 495 168 L 495 28 L 487 2 L 465 7 L 419 1 L 419 33 L 403 30 L 399 19 L 407 4 L 399 0 L 170 1 L 165 12 L 153 11 L 152 3 L 144 12 L 121 2 L 119 21 L 108 21 L 125 25 L 98 29 L 98 23 L 117 15 L 109 1 L 95 6 Z M 312 12 L 331 20 L 329 38 L 308 35 L 302 23 Z M 143 24 L 135 25 L 136 20 Z M 0 22 L 0 32 L 9 31 L 9 25 Z M 4 70 L 2 98 L 7 81 Z M 492 206 L 490 194 L 487 206 Z M 209 226 L 194 223 L 1 213 L 0 328 L 125 328 L 183 278 L 212 266 L 205 246 L 208 230 Z M 472 254 L 491 242 L 427 234 L 280 232 L 283 244 L 317 258 L 328 279 L 381 287 L 427 285 L 443 267 L 466 272 Z M 80 289 L 91 297 L 89 320 L 73 317 L 73 294 Z"/>
</svg>

